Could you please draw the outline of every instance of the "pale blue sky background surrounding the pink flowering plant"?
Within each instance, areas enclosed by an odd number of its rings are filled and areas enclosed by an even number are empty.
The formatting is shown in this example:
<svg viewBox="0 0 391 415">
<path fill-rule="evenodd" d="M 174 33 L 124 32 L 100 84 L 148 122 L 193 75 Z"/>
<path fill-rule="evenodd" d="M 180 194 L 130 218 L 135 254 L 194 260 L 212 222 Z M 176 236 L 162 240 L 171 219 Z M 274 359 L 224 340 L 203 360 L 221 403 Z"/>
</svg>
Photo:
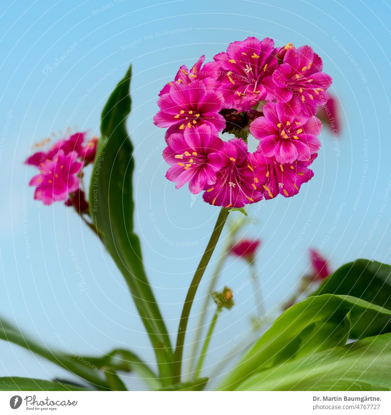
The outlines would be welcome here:
<svg viewBox="0 0 391 415">
<path fill-rule="evenodd" d="M 342 129 L 335 137 L 323 129 L 314 178 L 296 197 L 249 210 L 253 224 L 241 235 L 262 239 L 256 264 L 266 309 L 296 290 L 309 247 L 320 248 L 333 268 L 358 257 L 391 262 L 390 19 L 389 1 L 3 1 L 0 315 L 56 349 L 98 355 L 130 347 L 154 363 L 110 256 L 72 210 L 33 200 L 27 184 L 35 172 L 23 165 L 34 143 L 52 133 L 60 137 L 67 127 L 98 133 L 101 109 L 132 63 L 136 230 L 174 342 L 186 287 L 218 209 L 164 178 L 164 131 L 152 123 L 157 94 L 181 64 L 191 66 L 202 54 L 210 59 L 247 36 L 311 45 L 341 102 Z M 212 263 L 218 258 L 216 252 Z M 220 285 L 238 290 L 248 277 L 244 262 L 229 259 Z M 210 272 L 190 330 L 209 278 Z M 217 324 L 210 368 L 243 340 L 235 336 L 255 313 L 251 285 L 238 290 L 235 303 Z M 0 356 L 1 376 L 65 375 L 3 341 Z M 129 384 L 140 387 L 134 379 Z"/>
</svg>

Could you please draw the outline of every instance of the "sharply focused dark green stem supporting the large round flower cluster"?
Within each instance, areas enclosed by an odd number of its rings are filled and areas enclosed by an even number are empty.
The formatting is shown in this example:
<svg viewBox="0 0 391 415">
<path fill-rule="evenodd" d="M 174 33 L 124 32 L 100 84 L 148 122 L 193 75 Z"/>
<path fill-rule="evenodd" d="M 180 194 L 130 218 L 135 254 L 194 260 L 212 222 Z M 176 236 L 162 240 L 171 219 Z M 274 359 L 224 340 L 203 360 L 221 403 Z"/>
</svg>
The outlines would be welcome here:
<svg viewBox="0 0 391 415">
<path fill-rule="evenodd" d="M 220 238 L 221 231 L 223 230 L 224 224 L 228 218 L 229 213 L 229 209 L 221 208 L 216 224 L 214 225 L 213 232 L 210 235 L 207 248 L 205 249 L 204 255 L 202 256 L 201 261 L 198 264 L 193 280 L 191 281 L 191 284 L 187 291 L 186 299 L 184 300 L 184 306 L 182 309 L 181 320 L 179 322 L 178 328 L 177 344 L 174 353 L 174 383 L 181 382 L 184 337 L 186 334 L 187 322 L 189 320 L 191 306 L 193 304 L 193 300 L 196 295 L 198 285 L 201 282 L 201 279 L 207 268 L 207 264 L 209 263 L 210 257 L 212 256 L 217 241 Z"/>
</svg>

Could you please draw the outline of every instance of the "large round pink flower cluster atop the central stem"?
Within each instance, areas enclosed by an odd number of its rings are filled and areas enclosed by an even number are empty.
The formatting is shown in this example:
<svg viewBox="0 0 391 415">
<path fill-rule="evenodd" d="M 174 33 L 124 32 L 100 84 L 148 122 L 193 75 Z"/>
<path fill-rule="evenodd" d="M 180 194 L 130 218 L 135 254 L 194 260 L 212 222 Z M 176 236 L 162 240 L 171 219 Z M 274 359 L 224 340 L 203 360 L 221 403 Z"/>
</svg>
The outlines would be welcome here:
<svg viewBox="0 0 391 415">
<path fill-rule="evenodd" d="M 166 177 L 227 208 L 296 195 L 321 146 L 315 114 L 332 82 L 322 59 L 310 46 L 276 48 L 249 37 L 204 61 L 181 66 L 159 94 L 154 123 L 167 129 Z M 222 140 L 221 132 L 235 138 Z M 260 141 L 255 153 L 249 132 Z"/>
</svg>

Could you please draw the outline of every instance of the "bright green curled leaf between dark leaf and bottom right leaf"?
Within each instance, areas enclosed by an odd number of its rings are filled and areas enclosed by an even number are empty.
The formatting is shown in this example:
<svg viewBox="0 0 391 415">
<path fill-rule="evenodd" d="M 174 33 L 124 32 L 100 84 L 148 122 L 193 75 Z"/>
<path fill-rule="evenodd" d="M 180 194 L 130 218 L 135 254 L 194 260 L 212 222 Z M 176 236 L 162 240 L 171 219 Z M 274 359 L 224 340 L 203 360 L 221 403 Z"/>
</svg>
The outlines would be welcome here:
<svg viewBox="0 0 391 415">
<path fill-rule="evenodd" d="M 254 372 L 292 358 L 343 346 L 359 338 L 391 331 L 391 311 L 364 300 L 332 294 L 308 297 L 284 311 L 256 341 L 221 389 L 234 389 Z"/>
</svg>

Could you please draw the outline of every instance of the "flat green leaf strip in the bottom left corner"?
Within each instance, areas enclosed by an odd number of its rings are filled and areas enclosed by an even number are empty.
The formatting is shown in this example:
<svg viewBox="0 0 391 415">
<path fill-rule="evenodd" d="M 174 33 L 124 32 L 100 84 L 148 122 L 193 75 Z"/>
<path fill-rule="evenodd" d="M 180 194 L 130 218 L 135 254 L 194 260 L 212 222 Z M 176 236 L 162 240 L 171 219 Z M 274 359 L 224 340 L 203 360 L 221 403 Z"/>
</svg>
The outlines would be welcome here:
<svg viewBox="0 0 391 415">
<path fill-rule="evenodd" d="M 88 391 L 74 385 L 28 377 L 0 377 L 0 391 Z"/>
</svg>

